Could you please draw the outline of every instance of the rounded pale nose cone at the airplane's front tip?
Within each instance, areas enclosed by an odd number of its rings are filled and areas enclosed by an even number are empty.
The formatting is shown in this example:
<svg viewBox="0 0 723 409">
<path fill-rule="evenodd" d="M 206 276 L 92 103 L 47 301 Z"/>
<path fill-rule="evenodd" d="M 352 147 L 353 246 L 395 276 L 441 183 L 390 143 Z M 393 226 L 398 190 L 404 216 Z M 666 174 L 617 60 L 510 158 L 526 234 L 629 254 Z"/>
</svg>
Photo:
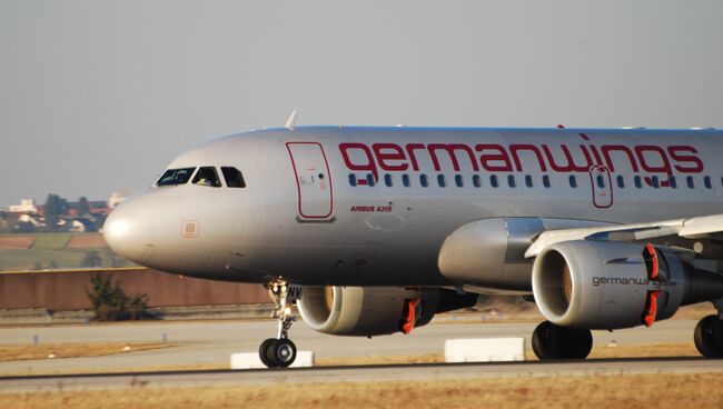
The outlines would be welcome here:
<svg viewBox="0 0 723 409">
<path fill-rule="evenodd" d="M 108 246 L 119 256 L 145 265 L 156 249 L 152 209 L 143 200 L 128 199 L 110 212 L 103 225 Z"/>
</svg>

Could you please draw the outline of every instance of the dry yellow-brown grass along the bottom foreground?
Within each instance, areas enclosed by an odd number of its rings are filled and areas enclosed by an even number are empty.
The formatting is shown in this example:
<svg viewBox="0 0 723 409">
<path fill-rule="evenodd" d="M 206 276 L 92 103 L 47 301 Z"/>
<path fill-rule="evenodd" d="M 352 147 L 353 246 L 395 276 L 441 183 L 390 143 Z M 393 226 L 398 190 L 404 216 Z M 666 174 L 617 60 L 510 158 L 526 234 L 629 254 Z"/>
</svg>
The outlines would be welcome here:
<svg viewBox="0 0 723 409">
<path fill-rule="evenodd" d="M 0 395 L 2 408 L 721 408 L 721 375 L 656 373 Z"/>
</svg>

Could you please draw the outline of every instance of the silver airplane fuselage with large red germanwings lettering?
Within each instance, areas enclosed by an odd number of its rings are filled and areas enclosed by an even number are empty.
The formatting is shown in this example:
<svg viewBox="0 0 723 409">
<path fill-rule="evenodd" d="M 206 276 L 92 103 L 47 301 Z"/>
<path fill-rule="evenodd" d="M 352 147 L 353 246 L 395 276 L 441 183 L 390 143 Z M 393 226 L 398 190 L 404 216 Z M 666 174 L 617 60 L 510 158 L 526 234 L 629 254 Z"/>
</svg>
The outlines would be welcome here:
<svg viewBox="0 0 723 409">
<path fill-rule="evenodd" d="M 150 187 L 113 210 L 106 237 L 143 266 L 219 280 L 531 292 L 531 265 L 521 255 L 512 260 L 518 268 L 493 263 L 493 272 L 454 282 L 440 273 L 440 248 L 483 219 L 525 230 L 721 213 L 722 137 L 638 129 L 252 131 L 202 144 L 169 166 L 235 167 L 245 188 Z M 491 246 L 476 256 L 497 257 Z"/>
</svg>

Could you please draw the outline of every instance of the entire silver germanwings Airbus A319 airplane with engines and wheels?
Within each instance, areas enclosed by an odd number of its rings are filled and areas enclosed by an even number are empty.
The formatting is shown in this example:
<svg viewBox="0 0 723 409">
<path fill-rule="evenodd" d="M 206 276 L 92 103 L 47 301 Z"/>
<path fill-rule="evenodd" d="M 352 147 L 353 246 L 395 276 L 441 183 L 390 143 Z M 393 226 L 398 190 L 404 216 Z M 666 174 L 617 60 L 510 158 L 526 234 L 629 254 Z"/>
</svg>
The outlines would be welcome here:
<svg viewBox="0 0 723 409">
<path fill-rule="evenodd" d="M 314 330 L 372 337 L 479 295 L 536 303 L 543 360 L 709 301 L 693 338 L 721 358 L 722 153 L 715 129 L 287 123 L 180 154 L 105 237 L 149 268 L 264 285 L 270 368 L 296 358 L 294 309 Z"/>
</svg>

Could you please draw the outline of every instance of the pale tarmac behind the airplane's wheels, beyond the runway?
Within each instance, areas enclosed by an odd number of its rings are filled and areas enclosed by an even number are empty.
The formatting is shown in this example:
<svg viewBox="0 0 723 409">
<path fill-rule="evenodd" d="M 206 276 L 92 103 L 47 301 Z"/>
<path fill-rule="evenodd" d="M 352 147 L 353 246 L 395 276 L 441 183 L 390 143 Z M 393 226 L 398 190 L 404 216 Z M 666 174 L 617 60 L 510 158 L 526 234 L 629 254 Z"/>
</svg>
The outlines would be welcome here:
<svg viewBox="0 0 723 409">
<path fill-rule="evenodd" d="M 692 340 L 695 325 L 695 320 L 676 319 L 656 322 L 651 329 L 638 327 L 615 332 L 593 331 L 593 337 L 596 345 L 607 345 L 611 340 L 615 340 L 620 346 L 686 342 Z M 298 350 L 314 351 L 315 358 L 414 356 L 442 353 L 445 340 L 452 338 L 524 337 L 529 346 L 529 336 L 535 326 L 536 323 L 456 323 L 454 319 L 445 319 L 417 328 L 408 336 L 397 333 L 367 339 L 328 336 L 309 329 L 303 322 L 296 322 L 290 330 L 290 339 Z M 30 345 L 37 337 L 39 343 L 166 341 L 172 347 L 103 357 L 0 362 L 0 376 L 77 372 L 80 369 L 103 372 L 151 367 L 227 365 L 231 353 L 258 351 L 258 346 L 264 339 L 276 335 L 276 327 L 277 323 L 273 320 L 6 327 L 0 328 L 2 345 Z M 613 361 L 613 366 L 615 362 L 618 361 Z M 661 362 L 664 367 L 668 361 Z M 586 365 L 588 363 L 578 363 L 580 367 Z M 720 366 L 720 362 L 717 365 Z"/>
</svg>

